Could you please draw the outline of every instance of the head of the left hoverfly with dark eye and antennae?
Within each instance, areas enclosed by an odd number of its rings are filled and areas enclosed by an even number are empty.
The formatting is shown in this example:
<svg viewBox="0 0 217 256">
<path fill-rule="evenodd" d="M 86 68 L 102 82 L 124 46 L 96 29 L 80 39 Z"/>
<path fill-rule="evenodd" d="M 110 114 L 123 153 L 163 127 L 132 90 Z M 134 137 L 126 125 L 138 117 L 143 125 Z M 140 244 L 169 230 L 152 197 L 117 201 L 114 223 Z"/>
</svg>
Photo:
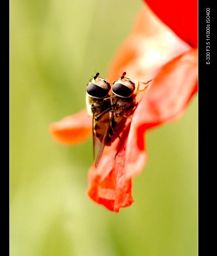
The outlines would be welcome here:
<svg viewBox="0 0 217 256">
<path fill-rule="evenodd" d="M 99 77 L 99 73 L 97 73 L 96 76 L 94 76 L 94 78 L 87 85 L 87 93 L 90 96 L 99 99 L 106 97 L 110 89 L 111 86 L 109 81 Z"/>
</svg>

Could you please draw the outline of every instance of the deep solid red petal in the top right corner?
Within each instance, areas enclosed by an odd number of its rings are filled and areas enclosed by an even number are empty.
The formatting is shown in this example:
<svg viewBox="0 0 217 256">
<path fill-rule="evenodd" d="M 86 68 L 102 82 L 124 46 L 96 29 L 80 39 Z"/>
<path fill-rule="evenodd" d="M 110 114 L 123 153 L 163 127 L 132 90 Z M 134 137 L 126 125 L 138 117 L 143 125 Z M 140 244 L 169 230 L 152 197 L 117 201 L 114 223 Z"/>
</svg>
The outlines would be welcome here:
<svg viewBox="0 0 217 256">
<path fill-rule="evenodd" d="M 153 12 L 191 47 L 197 47 L 197 0 L 145 0 Z"/>
</svg>

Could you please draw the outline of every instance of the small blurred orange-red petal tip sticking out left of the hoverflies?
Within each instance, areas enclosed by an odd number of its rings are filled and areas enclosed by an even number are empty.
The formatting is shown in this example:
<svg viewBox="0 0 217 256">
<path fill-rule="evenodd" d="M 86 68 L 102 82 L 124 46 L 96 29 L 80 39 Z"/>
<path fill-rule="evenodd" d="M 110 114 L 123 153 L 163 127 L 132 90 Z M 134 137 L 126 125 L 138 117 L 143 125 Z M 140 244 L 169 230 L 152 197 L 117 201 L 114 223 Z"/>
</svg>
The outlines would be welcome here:
<svg viewBox="0 0 217 256">
<path fill-rule="evenodd" d="M 49 126 L 49 131 L 59 143 L 77 144 L 87 140 L 92 133 L 92 117 L 86 109 L 67 116 Z"/>
</svg>

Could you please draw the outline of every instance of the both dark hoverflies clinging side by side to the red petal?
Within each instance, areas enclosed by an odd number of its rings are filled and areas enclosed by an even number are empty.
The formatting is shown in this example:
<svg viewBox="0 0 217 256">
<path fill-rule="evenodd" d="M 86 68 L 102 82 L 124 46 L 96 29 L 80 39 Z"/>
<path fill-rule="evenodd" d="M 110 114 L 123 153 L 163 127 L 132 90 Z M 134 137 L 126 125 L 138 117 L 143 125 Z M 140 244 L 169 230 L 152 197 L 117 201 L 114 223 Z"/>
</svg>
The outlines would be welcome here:
<svg viewBox="0 0 217 256">
<path fill-rule="evenodd" d="M 136 90 L 134 82 L 125 77 L 126 72 L 114 81 L 112 87 L 107 79 L 99 75 L 96 73 L 86 88 L 86 106 L 93 116 L 94 159 L 98 150 L 95 168 L 100 162 L 105 145 L 110 146 L 117 137 L 121 141 L 120 133 L 138 104 L 136 95 L 145 91 L 151 81 L 142 83 L 146 85 L 142 90 L 139 90 L 139 82 Z"/>
</svg>

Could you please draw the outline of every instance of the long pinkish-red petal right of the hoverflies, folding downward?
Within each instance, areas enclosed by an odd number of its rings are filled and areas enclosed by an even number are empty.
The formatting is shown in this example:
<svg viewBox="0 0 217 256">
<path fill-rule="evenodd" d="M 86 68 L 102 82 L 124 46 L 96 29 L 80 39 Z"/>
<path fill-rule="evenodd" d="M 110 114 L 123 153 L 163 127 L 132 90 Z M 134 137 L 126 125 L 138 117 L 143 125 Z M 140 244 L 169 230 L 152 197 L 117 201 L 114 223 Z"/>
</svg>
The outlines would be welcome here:
<svg viewBox="0 0 217 256">
<path fill-rule="evenodd" d="M 138 175 L 147 161 L 145 131 L 180 117 L 196 91 L 197 49 L 192 49 L 166 64 L 143 95 L 128 135 L 126 177 Z"/>
</svg>

